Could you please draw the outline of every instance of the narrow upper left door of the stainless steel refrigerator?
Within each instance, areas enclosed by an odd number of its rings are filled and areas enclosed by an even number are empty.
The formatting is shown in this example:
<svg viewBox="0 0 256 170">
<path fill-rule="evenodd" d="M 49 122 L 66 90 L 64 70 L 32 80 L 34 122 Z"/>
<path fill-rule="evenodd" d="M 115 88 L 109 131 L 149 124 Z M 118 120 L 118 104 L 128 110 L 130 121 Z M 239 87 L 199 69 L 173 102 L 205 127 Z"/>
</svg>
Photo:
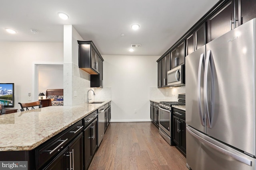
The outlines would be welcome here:
<svg viewBox="0 0 256 170">
<path fill-rule="evenodd" d="M 186 56 L 186 124 L 206 133 L 204 112 L 205 45 Z"/>
</svg>

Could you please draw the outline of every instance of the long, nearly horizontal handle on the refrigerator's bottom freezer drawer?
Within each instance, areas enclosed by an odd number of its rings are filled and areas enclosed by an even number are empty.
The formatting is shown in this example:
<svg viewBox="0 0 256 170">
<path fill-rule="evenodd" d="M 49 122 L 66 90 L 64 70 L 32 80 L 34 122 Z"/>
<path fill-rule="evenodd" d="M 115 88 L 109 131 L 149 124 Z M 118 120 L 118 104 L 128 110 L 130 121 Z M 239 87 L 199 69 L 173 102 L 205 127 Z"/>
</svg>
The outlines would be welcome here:
<svg viewBox="0 0 256 170">
<path fill-rule="evenodd" d="M 188 126 L 186 127 L 186 129 L 187 129 L 187 131 L 188 131 L 193 137 L 195 137 L 196 139 L 198 139 L 198 140 L 201 141 L 202 143 L 205 143 L 205 144 L 208 145 L 209 147 L 212 147 L 213 149 L 218 150 L 219 152 L 222 152 L 223 154 L 226 154 L 226 155 L 228 155 L 228 156 L 231 156 L 232 158 L 234 158 L 234 159 L 236 159 L 236 160 L 238 160 L 238 161 L 240 161 L 240 162 L 243 162 L 244 164 L 247 164 L 247 165 L 249 165 L 249 166 L 252 166 L 252 161 L 251 161 L 251 160 L 248 160 L 248 159 L 246 159 L 246 158 L 244 158 L 244 157 L 242 157 L 242 156 L 239 156 L 239 155 L 237 155 L 237 154 L 235 154 L 235 153 L 232 153 L 232 152 L 230 152 L 230 151 L 228 151 L 228 150 L 226 150 L 226 149 L 223 149 L 223 148 L 221 148 L 221 147 L 219 147 L 219 146 L 217 146 L 217 145 L 214 145 L 213 143 L 210 143 L 210 142 L 207 141 L 206 139 L 203 139 L 202 137 L 196 135 L 196 133 L 192 132 Z"/>
</svg>

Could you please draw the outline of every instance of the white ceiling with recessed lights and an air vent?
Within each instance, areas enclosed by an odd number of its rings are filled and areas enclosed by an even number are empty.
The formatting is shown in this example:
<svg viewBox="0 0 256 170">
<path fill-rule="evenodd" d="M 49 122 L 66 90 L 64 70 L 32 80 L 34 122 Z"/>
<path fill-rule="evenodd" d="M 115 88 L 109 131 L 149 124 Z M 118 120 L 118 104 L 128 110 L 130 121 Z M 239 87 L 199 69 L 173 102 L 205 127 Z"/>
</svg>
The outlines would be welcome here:
<svg viewBox="0 0 256 170">
<path fill-rule="evenodd" d="M 101 55 L 163 55 L 218 0 L 1 0 L 0 41 L 63 42 L 72 24 Z M 65 12 L 68 20 L 57 13 Z M 139 23 L 136 31 L 132 23 Z M 8 34 L 5 28 L 17 31 Z M 38 34 L 32 34 L 36 29 Z M 122 37 L 121 34 L 125 36 Z M 141 44 L 129 52 L 131 44 Z"/>
</svg>

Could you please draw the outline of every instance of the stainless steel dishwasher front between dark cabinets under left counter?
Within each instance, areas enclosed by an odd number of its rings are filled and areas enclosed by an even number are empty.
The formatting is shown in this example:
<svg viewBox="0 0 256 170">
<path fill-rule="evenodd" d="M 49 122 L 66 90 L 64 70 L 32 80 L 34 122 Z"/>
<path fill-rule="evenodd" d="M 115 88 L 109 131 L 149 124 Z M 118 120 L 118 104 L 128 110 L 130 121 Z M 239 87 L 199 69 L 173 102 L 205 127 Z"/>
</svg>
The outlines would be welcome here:
<svg viewBox="0 0 256 170">
<path fill-rule="evenodd" d="M 104 136 L 104 106 L 98 109 L 98 147 Z"/>
</svg>

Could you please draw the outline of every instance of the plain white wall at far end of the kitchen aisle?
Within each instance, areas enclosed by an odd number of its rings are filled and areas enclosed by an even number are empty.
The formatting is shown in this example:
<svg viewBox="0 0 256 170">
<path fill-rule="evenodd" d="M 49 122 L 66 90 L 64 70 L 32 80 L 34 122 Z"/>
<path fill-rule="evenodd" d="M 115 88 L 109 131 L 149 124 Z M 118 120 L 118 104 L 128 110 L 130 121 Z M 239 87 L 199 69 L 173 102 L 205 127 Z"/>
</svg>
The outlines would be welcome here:
<svg viewBox="0 0 256 170">
<path fill-rule="evenodd" d="M 103 85 L 111 88 L 112 95 L 111 121 L 150 121 L 150 87 L 157 87 L 156 60 L 160 56 L 102 57 Z"/>
</svg>

